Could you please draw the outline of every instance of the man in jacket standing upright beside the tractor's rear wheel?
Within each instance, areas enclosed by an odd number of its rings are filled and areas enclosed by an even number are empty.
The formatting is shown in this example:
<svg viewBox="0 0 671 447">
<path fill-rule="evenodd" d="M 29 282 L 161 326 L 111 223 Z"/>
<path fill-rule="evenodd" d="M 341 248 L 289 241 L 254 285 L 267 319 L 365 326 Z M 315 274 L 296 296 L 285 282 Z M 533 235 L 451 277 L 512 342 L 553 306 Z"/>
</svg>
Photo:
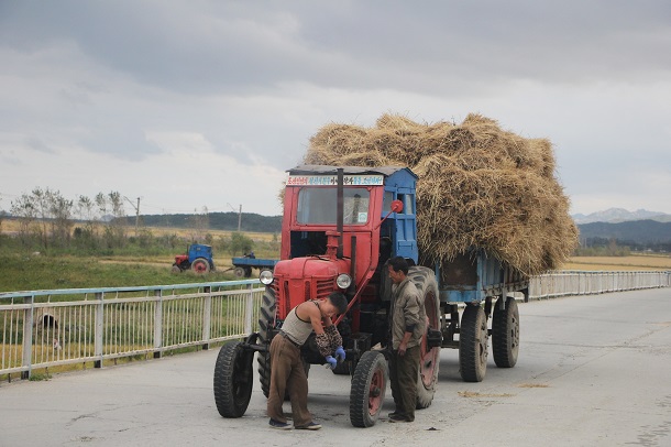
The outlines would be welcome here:
<svg viewBox="0 0 671 447">
<path fill-rule="evenodd" d="M 426 326 L 426 314 L 419 292 L 407 276 L 407 261 L 402 257 L 392 258 L 388 270 L 394 283 L 389 309 L 392 331 L 389 381 L 396 405 L 396 410 L 389 413 L 389 422 L 413 422 L 417 406 L 420 342 Z"/>
</svg>

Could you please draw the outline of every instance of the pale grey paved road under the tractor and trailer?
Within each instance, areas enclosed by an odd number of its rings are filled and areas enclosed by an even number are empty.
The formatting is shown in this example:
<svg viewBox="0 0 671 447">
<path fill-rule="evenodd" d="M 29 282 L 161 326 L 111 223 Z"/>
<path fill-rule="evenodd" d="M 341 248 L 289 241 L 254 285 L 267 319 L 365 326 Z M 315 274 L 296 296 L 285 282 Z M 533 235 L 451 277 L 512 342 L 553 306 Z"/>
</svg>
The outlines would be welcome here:
<svg viewBox="0 0 671 447">
<path fill-rule="evenodd" d="M 310 371 L 319 432 L 268 428 L 258 382 L 244 417 L 215 408 L 217 351 L 0 384 L 0 446 L 671 446 L 671 290 L 519 306 L 517 367 L 464 383 L 443 350 L 414 424 L 349 422 L 349 379 Z M 288 406 L 288 405 L 287 405 Z M 288 411 L 288 408 L 287 408 Z"/>
</svg>

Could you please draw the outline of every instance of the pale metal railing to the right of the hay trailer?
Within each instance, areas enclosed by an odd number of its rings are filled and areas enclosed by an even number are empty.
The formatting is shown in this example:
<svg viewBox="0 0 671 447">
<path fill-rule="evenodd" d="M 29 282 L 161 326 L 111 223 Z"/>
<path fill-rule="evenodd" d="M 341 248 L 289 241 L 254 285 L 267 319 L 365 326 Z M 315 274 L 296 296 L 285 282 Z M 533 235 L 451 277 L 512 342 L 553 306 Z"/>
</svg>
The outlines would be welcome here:
<svg viewBox="0 0 671 447">
<path fill-rule="evenodd" d="M 557 271 L 529 279 L 529 299 L 671 286 L 671 272 Z"/>
</svg>

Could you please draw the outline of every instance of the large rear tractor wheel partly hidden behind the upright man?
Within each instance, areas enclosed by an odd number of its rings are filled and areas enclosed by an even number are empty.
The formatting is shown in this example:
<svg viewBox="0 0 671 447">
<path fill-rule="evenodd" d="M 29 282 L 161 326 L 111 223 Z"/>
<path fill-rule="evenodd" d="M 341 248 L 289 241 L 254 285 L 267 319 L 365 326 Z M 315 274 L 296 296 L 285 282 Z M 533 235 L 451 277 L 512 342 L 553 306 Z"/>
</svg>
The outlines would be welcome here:
<svg viewBox="0 0 671 447">
<path fill-rule="evenodd" d="M 426 314 L 427 331 L 440 330 L 440 295 L 438 283 L 431 269 L 411 266 L 408 276 L 417 287 Z M 440 366 L 440 347 L 428 349 L 427 331 L 421 338 L 419 355 L 419 374 L 417 377 L 417 408 L 427 408 L 433 402 L 438 384 Z"/>
</svg>

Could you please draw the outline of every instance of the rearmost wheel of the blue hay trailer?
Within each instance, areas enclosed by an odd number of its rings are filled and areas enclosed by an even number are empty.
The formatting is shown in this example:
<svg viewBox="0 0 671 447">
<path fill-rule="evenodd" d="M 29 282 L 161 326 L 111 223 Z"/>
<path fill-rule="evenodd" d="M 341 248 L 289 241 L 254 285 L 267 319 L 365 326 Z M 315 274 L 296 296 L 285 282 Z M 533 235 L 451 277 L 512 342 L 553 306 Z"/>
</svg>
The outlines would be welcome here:
<svg viewBox="0 0 671 447">
<path fill-rule="evenodd" d="M 498 298 L 492 317 L 492 351 L 498 368 L 513 368 L 519 353 L 519 309 L 514 297 Z"/>
</svg>

